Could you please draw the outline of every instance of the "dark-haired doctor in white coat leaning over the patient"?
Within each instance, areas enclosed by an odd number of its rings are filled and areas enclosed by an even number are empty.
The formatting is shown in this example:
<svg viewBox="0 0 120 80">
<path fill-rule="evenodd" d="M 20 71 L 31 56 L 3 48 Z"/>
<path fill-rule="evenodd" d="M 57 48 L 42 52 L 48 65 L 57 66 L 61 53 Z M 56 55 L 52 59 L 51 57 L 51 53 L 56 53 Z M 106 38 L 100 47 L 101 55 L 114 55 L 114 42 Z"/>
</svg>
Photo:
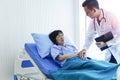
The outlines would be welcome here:
<svg viewBox="0 0 120 80">
<path fill-rule="evenodd" d="M 95 35 L 103 35 L 112 32 L 113 39 L 108 42 L 96 42 L 101 48 L 108 46 L 106 49 L 105 61 L 112 63 L 120 63 L 120 24 L 117 18 L 110 12 L 100 9 L 97 0 L 85 0 L 82 4 L 87 16 L 91 18 L 91 22 L 86 34 L 86 40 L 81 53 L 82 58 L 85 57 L 86 50 L 90 47 L 95 39 Z"/>
</svg>

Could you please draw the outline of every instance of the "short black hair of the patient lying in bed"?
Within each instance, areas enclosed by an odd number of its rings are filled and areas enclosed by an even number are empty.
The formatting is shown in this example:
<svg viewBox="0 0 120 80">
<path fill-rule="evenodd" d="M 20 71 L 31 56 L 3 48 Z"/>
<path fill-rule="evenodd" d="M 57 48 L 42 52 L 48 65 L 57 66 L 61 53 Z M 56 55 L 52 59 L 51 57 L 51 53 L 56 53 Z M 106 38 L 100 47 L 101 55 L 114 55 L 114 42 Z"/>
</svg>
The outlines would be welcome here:
<svg viewBox="0 0 120 80">
<path fill-rule="evenodd" d="M 62 33 L 62 34 L 63 34 L 63 32 L 62 32 L 61 30 L 54 30 L 53 32 L 51 32 L 51 33 L 49 34 L 50 40 L 51 40 L 54 44 L 56 44 L 56 45 L 58 45 L 58 43 L 57 43 L 57 41 L 56 41 L 56 37 L 57 37 L 57 35 L 58 35 L 59 33 Z"/>
</svg>

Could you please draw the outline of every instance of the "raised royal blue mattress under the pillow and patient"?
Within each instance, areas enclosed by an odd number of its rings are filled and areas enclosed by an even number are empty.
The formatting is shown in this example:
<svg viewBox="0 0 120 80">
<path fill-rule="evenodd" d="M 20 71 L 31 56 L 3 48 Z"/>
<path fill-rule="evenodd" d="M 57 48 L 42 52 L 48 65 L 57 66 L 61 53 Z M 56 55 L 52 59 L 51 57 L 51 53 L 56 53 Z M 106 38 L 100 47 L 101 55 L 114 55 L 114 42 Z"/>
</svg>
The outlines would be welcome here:
<svg viewBox="0 0 120 80">
<path fill-rule="evenodd" d="M 56 71 L 60 68 L 60 66 L 53 61 L 52 57 L 41 58 L 35 43 L 25 43 L 25 50 L 48 78 L 51 78 L 49 71 Z"/>
</svg>

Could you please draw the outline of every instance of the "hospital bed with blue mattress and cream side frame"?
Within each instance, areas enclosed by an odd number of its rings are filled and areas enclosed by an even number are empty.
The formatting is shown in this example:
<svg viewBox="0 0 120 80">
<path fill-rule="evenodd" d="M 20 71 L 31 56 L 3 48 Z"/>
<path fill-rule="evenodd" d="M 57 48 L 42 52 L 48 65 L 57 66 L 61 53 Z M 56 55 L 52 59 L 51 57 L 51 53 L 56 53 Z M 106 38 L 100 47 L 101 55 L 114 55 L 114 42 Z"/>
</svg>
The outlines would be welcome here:
<svg viewBox="0 0 120 80">
<path fill-rule="evenodd" d="M 50 57 L 42 59 L 38 55 L 35 43 L 26 43 L 25 49 L 15 59 L 14 80 L 52 80 L 49 70 L 55 71 L 59 68 Z M 120 80 L 120 67 L 117 77 Z"/>
</svg>

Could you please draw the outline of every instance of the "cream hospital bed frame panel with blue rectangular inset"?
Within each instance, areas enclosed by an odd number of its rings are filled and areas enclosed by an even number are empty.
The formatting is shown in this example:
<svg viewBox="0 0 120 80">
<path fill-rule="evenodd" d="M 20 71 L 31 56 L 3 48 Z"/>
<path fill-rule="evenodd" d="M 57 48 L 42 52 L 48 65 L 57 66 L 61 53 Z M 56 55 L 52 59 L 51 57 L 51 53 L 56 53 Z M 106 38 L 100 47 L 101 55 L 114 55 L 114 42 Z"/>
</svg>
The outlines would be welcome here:
<svg viewBox="0 0 120 80">
<path fill-rule="evenodd" d="M 28 65 L 24 65 L 27 62 Z M 17 54 L 14 67 L 14 80 L 52 80 L 37 67 L 25 49 Z"/>
</svg>

